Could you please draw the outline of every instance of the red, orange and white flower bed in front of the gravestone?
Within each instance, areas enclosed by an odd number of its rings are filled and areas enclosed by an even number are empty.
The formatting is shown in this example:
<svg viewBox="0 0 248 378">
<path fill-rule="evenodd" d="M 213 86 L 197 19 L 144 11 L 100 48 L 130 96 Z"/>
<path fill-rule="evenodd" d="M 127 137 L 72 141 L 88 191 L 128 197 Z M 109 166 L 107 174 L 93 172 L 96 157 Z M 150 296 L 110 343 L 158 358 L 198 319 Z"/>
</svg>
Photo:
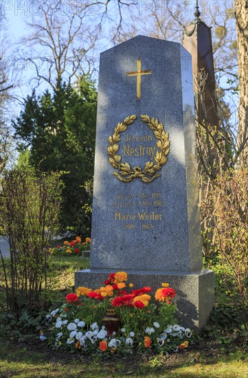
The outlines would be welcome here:
<svg viewBox="0 0 248 378">
<path fill-rule="evenodd" d="M 150 287 L 133 289 L 130 283 L 127 291 L 126 280 L 127 274 L 118 271 L 100 289 L 78 287 L 76 293 L 69 293 L 65 303 L 46 316 L 47 330 L 41 331 L 40 339 L 47 339 L 54 348 L 107 356 L 187 348 L 194 337 L 174 318 L 174 289 L 162 283 L 152 298 Z M 102 323 L 108 311 L 114 322 L 120 318 L 114 332 L 109 323 Z"/>
</svg>

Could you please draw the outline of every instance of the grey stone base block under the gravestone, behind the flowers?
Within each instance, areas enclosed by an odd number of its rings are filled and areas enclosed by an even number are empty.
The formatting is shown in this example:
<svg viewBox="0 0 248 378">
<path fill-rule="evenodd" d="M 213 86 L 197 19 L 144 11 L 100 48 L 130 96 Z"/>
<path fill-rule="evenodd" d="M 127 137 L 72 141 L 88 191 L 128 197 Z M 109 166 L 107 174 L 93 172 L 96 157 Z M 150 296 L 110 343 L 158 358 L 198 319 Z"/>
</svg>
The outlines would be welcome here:
<svg viewBox="0 0 248 378">
<path fill-rule="evenodd" d="M 116 269 L 86 269 L 76 271 L 75 287 L 84 286 L 98 289 L 104 280 Z M 120 270 L 120 269 L 119 269 Z M 124 270 L 124 269 L 123 269 Z M 168 282 L 177 292 L 173 302 L 177 306 L 177 319 L 181 326 L 201 330 L 210 317 L 214 307 L 214 272 L 208 269 L 190 273 L 170 271 L 143 271 L 125 269 L 128 282 L 138 289 L 144 286 L 153 288 L 153 293 Z"/>
</svg>

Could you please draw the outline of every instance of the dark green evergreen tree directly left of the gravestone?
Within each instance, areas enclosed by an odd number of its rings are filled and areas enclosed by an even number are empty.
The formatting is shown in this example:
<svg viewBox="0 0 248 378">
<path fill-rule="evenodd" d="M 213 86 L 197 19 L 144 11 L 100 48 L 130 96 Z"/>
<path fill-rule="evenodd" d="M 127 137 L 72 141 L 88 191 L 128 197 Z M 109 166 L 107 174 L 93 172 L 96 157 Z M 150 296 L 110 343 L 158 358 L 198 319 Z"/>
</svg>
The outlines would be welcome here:
<svg viewBox="0 0 248 378">
<path fill-rule="evenodd" d="M 53 93 L 27 96 L 13 122 L 19 151 L 30 149 L 30 164 L 44 172 L 63 170 L 63 230 L 89 235 L 90 219 L 82 211 L 89 202 L 84 183 L 93 176 L 97 93 L 82 77 L 75 91 L 58 80 Z"/>
</svg>

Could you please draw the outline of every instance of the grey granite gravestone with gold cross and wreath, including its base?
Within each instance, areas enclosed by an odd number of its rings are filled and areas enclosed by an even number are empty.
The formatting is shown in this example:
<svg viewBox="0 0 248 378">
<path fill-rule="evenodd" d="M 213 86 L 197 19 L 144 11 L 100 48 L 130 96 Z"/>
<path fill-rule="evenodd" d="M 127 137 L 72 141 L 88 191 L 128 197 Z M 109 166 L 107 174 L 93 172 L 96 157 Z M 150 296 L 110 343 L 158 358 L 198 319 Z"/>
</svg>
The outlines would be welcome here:
<svg viewBox="0 0 248 378">
<path fill-rule="evenodd" d="M 177 291 L 179 321 L 199 327 L 214 300 L 202 269 L 190 54 L 137 36 L 101 54 L 90 269 L 96 289 L 126 271 L 135 287 Z"/>
</svg>

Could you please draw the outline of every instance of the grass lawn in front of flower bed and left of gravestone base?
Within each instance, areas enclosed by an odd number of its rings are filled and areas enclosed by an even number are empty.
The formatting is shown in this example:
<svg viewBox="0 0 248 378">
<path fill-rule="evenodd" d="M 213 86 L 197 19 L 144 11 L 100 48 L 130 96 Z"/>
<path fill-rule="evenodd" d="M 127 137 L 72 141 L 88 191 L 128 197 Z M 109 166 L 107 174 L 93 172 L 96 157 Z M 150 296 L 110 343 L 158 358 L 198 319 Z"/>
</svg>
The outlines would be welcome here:
<svg viewBox="0 0 248 378">
<path fill-rule="evenodd" d="M 59 303 L 74 286 L 74 272 L 88 266 L 89 258 L 54 256 L 49 266 L 50 298 Z M 168 356 L 114 356 L 101 360 L 54 351 L 32 331 L 18 338 L 2 332 L 0 377 L 247 378 L 248 357 L 234 343 L 223 346 L 203 335 L 199 343 Z"/>
</svg>

